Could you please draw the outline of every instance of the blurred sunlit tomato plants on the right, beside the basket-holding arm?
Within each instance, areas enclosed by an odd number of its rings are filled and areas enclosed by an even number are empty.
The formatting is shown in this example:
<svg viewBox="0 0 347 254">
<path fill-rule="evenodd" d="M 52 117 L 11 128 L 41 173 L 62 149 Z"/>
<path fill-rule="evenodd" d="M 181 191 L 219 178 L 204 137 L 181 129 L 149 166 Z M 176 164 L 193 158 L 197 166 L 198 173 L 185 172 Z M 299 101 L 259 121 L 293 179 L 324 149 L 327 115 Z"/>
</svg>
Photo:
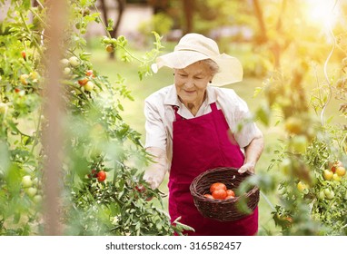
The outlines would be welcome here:
<svg viewBox="0 0 347 254">
<path fill-rule="evenodd" d="M 281 68 L 274 68 L 256 90 L 265 101 L 256 117 L 267 127 L 274 120 L 278 143 L 270 148 L 274 154 L 268 168 L 274 175 L 272 181 L 263 175 L 253 181 L 261 190 L 276 186 L 278 199 L 271 209 L 273 221 L 284 235 L 346 235 L 347 51 L 343 42 L 347 34 L 339 24 L 327 25 L 324 40 L 331 43 L 322 44 L 326 54 L 318 56 L 308 49 L 316 35 L 296 38 L 314 29 L 292 28 L 295 38 L 284 33 L 280 40 L 273 40 L 279 48 L 282 40 L 291 45 L 284 47 L 288 52 L 281 54 Z M 273 48 L 273 44 L 269 46 Z M 300 53 L 293 54 L 294 48 Z M 339 173 L 338 167 L 342 167 Z"/>
</svg>

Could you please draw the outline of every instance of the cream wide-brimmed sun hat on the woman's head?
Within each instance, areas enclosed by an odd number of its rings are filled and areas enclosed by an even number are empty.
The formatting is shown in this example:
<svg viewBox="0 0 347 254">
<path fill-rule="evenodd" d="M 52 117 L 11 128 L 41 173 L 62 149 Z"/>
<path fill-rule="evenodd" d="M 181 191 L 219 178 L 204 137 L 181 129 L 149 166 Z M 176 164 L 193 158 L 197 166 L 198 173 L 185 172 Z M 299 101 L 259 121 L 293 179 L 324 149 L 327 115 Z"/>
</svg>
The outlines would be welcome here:
<svg viewBox="0 0 347 254">
<path fill-rule="evenodd" d="M 156 59 L 152 70 L 157 73 L 163 66 L 183 69 L 204 59 L 212 59 L 219 65 L 219 72 L 213 76 L 212 85 L 222 86 L 243 80 L 243 66 L 240 61 L 228 54 L 220 54 L 218 45 L 202 34 L 185 34 L 172 53 Z"/>
</svg>

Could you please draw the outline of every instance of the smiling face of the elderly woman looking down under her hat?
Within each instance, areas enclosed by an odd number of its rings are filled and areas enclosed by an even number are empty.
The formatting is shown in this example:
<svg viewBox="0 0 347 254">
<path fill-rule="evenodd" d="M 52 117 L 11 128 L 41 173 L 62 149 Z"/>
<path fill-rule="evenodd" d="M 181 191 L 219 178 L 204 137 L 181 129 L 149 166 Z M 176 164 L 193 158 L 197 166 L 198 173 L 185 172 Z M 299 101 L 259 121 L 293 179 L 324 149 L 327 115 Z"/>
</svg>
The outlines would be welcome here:
<svg viewBox="0 0 347 254">
<path fill-rule="evenodd" d="M 175 69 L 174 84 L 177 95 L 184 104 L 201 104 L 207 84 L 212 78 L 209 65 L 203 62 L 196 62 L 183 69 Z"/>
</svg>

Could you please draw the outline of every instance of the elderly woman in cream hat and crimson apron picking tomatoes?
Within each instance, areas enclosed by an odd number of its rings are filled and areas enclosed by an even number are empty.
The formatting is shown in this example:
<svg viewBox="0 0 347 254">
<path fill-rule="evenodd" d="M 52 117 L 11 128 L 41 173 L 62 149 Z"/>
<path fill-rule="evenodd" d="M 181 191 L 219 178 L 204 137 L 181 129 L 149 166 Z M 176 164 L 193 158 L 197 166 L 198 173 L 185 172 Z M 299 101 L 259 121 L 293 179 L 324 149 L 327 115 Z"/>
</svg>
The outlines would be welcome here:
<svg viewBox="0 0 347 254">
<path fill-rule="evenodd" d="M 195 230 L 189 235 L 254 235 L 258 209 L 233 222 L 204 218 L 193 204 L 193 179 L 216 167 L 254 172 L 263 151 L 263 134 L 247 104 L 232 89 L 218 86 L 243 78 L 240 62 L 220 54 L 218 45 L 202 34 L 186 34 L 170 54 L 157 58 L 154 73 L 173 69 L 174 84 L 145 100 L 146 150 L 154 155 L 144 179 L 153 189 L 169 171 L 169 213 Z"/>
</svg>

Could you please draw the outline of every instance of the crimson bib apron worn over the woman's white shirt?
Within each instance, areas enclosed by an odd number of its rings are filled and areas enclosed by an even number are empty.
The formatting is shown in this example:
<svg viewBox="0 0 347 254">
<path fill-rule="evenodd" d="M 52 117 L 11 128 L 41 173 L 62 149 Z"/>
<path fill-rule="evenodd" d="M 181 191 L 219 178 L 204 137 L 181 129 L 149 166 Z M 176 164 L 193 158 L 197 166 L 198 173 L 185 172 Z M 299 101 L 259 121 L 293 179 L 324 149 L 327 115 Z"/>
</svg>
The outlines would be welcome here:
<svg viewBox="0 0 347 254">
<path fill-rule="evenodd" d="M 193 204 L 189 186 L 196 176 L 216 167 L 240 168 L 244 161 L 240 147 L 230 142 L 222 110 L 215 103 L 211 109 L 193 119 L 183 119 L 174 110 L 173 161 L 168 183 L 171 221 L 181 216 L 179 221 L 195 230 L 184 232 L 188 235 L 254 235 L 258 231 L 258 208 L 241 220 L 221 222 L 204 218 Z"/>
</svg>

